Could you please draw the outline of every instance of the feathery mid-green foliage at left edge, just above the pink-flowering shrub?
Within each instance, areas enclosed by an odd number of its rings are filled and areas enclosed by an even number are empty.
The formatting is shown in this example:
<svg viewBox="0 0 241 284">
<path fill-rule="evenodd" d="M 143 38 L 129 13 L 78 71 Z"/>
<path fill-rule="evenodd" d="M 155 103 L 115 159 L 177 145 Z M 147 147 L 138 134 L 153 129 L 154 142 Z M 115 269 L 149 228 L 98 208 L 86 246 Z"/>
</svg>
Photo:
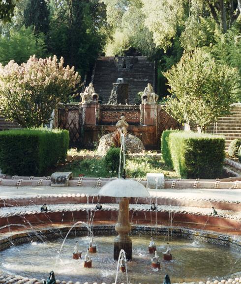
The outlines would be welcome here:
<svg viewBox="0 0 241 284">
<path fill-rule="evenodd" d="M 36 57 L 44 57 L 45 53 L 46 45 L 43 34 L 35 36 L 31 27 L 12 29 L 9 36 L 0 36 L 0 62 L 3 65 L 10 60 L 20 64 L 26 62 L 33 54 Z"/>
</svg>

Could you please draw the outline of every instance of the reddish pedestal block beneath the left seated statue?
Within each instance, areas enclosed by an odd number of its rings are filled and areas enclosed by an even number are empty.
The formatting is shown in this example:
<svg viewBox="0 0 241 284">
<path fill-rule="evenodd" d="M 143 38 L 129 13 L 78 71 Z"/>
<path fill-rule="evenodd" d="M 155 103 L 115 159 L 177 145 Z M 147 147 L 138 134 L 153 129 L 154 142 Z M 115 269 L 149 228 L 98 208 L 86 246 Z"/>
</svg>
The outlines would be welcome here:
<svg viewBox="0 0 241 284">
<path fill-rule="evenodd" d="M 91 103 L 82 105 L 82 124 L 97 125 L 99 123 L 100 104 Z"/>
</svg>

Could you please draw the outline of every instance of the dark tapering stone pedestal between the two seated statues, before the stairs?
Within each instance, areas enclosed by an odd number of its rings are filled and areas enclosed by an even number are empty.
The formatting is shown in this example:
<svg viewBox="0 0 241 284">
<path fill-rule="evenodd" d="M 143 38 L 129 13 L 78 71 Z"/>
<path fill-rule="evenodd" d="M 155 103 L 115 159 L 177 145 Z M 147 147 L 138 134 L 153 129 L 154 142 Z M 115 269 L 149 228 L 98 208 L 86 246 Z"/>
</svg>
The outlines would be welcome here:
<svg viewBox="0 0 241 284">
<path fill-rule="evenodd" d="M 128 86 L 126 83 L 114 83 L 108 105 L 129 104 Z"/>
</svg>

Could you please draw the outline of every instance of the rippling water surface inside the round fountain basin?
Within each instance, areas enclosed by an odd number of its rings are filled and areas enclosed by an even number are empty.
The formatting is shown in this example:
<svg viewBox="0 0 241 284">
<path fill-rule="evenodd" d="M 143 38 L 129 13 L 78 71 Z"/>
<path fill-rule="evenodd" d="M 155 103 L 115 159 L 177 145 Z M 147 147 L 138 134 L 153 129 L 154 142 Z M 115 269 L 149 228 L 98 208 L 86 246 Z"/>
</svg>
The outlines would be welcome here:
<svg viewBox="0 0 241 284">
<path fill-rule="evenodd" d="M 84 268 L 84 259 L 72 258 L 76 238 L 66 239 L 58 258 L 63 239 L 44 242 L 31 242 L 13 246 L 0 252 L 0 269 L 9 274 L 37 279 L 47 278 L 54 270 L 56 279 L 80 283 L 114 283 L 117 261 L 113 259 L 115 236 L 96 236 L 98 252 L 90 254 L 92 268 Z M 89 246 L 90 237 L 77 236 L 82 258 Z M 162 252 L 167 243 L 166 236 L 154 237 L 160 256 L 160 269 L 151 267 L 148 250 L 150 236 L 132 236 L 133 259 L 127 264 L 130 283 L 160 283 L 168 274 L 172 283 L 206 281 L 217 276 L 223 277 L 241 271 L 240 252 L 226 246 L 186 240 L 173 237 L 169 239 L 173 260 L 163 260 Z M 57 260 L 57 262 L 56 262 Z M 126 283 L 126 274 L 119 272 L 118 283 Z"/>
</svg>

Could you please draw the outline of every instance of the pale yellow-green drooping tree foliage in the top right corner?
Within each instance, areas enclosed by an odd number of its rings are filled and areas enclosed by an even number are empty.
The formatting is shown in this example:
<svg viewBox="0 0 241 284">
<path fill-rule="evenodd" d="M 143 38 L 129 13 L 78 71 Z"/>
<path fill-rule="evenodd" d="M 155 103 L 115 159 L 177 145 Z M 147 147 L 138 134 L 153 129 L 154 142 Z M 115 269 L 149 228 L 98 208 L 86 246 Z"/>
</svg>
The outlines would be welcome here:
<svg viewBox="0 0 241 284">
<path fill-rule="evenodd" d="M 185 40 L 199 37 L 201 18 L 210 17 L 222 32 L 227 32 L 241 12 L 241 0 L 142 0 L 145 24 L 156 46 L 167 49 L 172 45 L 179 26 L 184 27 Z M 229 2 L 229 5 L 227 4 Z M 203 30 L 204 32 L 204 30 Z"/>
</svg>

